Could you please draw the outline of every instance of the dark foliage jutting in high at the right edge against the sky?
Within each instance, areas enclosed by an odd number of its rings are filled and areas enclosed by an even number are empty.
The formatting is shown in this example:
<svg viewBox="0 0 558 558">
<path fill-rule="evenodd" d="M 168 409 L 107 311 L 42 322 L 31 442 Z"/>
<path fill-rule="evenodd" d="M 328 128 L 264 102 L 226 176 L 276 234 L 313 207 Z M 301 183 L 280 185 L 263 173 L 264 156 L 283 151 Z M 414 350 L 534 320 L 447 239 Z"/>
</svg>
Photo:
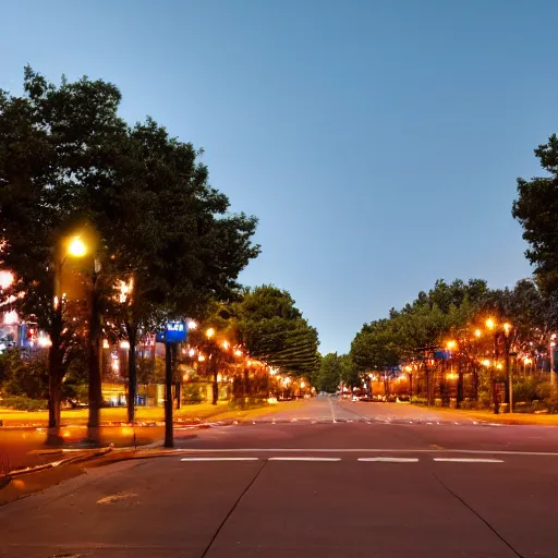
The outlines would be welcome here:
<svg viewBox="0 0 558 558">
<path fill-rule="evenodd" d="M 558 137 L 553 134 L 535 149 L 541 167 L 548 173 L 531 180 L 518 178 L 518 198 L 512 216 L 523 227 L 529 244 L 527 259 L 535 266 L 535 277 L 546 292 L 558 290 Z"/>
</svg>

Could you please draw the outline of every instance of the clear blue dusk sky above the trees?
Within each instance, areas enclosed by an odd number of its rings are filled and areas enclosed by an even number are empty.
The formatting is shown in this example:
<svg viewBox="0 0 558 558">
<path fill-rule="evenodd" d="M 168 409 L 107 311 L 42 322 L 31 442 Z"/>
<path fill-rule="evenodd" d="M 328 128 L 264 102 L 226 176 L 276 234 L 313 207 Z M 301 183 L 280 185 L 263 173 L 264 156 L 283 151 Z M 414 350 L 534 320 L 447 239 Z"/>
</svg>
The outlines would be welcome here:
<svg viewBox="0 0 558 558">
<path fill-rule="evenodd" d="M 556 0 L 17 0 L 0 87 L 27 62 L 102 77 L 126 119 L 204 147 L 260 219 L 242 281 L 344 352 L 437 278 L 530 275 L 510 207 L 558 132 L 557 21 Z"/>
</svg>

